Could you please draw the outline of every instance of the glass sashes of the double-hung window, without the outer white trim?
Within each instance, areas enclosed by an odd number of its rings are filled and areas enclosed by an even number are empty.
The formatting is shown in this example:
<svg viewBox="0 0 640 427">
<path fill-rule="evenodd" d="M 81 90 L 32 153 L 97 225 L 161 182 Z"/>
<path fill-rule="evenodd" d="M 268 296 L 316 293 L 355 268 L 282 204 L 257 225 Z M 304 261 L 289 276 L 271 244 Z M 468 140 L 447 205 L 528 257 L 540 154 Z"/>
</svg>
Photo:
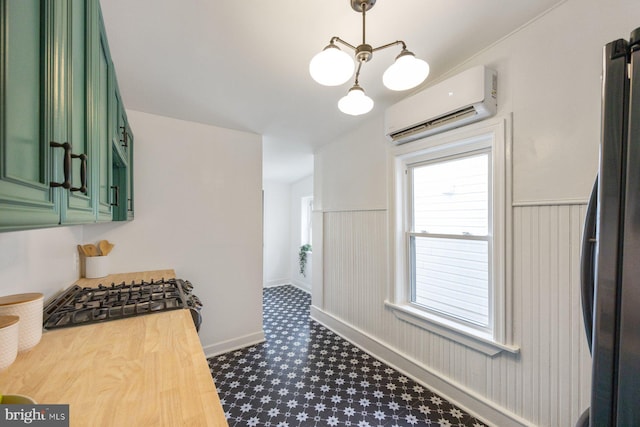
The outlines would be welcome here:
<svg viewBox="0 0 640 427">
<path fill-rule="evenodd" d="M 411 302 L 482 330 L 489 316 L 489 153 L 410 165 Z"/>
</svg>

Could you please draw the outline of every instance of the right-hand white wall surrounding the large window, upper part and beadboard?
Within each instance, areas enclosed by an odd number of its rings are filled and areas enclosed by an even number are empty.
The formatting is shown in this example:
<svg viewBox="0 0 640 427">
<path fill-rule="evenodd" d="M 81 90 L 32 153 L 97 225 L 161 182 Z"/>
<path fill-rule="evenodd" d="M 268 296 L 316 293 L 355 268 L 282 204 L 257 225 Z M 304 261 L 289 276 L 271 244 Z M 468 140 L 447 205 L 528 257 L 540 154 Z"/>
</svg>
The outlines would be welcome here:
<svg viewBox="0 0 640 427">
<path fill-rule="evenodd" d="M 598 161 L 601 52 L 638 17 L 637 1 L 568 0 L 448 73 L 496 69 L 498 114 L 513 115 L 510 338 L 519 355 L 485 356 L 385 309 L 383 112 L 316 153 L 314 317 L 496 425 L 573 425 L 590 393 L 578 262 Z"/>
</svg>

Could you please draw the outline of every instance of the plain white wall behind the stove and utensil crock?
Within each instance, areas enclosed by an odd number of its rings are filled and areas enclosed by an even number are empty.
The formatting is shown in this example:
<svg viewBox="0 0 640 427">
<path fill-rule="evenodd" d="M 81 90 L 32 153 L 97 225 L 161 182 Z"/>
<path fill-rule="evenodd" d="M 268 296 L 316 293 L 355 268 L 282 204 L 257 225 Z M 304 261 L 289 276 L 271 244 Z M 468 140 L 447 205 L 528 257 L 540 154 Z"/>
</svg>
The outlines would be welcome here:
<svg viewBox="0 0 640 427">
<path fill-rule="evenodd" d="M 129 111 L 135 219 L 84 227 L 115 244 L 111 271 L 174 268 L 204 304 L 208 354 L 263 338 L 258 135 Z"/>
</svg>

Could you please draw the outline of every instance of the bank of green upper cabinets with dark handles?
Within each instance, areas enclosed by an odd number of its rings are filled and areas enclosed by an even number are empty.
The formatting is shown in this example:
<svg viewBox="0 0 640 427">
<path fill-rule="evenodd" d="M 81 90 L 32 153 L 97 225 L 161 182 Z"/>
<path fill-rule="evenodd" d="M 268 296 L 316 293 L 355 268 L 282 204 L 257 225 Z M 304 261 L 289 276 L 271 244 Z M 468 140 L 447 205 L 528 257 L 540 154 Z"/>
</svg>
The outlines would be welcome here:
<svg viewBox="0 0 640 427">
<path fill-rule="evenodd" d="M 0 0 L 0 106 L 0 231 L 123 219 L 112 140 L 131 131 L 98 0 Z"/>
</svg>

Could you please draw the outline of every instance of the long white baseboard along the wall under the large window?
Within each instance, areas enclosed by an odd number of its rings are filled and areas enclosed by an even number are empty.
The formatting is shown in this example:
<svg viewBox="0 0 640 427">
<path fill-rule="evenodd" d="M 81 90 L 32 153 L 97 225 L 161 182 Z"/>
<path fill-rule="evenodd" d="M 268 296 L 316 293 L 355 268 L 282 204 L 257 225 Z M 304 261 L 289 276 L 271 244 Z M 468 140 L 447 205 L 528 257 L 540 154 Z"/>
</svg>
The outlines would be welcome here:
<svg viewBox="0 0 640 427">
<path fill-rule="evenodd" d="M 479 395 L 477 392 L 469 390 L 465 386 L 452 381 L 450 378 L 430 370 L 419 361 L 376 340 L 366 332 L 345 323 L 313 305 L 311 306 L 311 318 L 351 342 L 356 347 L 371 353 L 376 358 L 402 372 L 417 383 L 422 384 L 429 390 L 455 403 L 488 425 L 500 427 L 533 425 L 505 408 L 496 407 L 495 403 Z"/>
</svg>

